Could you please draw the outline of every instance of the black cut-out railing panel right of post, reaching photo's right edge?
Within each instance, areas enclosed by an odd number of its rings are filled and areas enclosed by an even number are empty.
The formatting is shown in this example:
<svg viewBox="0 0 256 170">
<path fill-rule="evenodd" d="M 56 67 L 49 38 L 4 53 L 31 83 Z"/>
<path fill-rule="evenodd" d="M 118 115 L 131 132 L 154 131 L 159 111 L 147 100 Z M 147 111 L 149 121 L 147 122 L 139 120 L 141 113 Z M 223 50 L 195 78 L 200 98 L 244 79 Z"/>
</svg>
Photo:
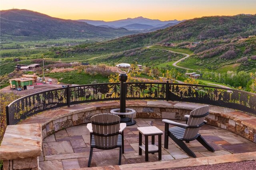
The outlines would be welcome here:
<svg viewBox="0 0 256 170">
<path fill-rule="evenodd" d="M 194 84 L 169 84 L 169 100 L 211 104 L 256 114 L 256 94 Z"/>
</svg>

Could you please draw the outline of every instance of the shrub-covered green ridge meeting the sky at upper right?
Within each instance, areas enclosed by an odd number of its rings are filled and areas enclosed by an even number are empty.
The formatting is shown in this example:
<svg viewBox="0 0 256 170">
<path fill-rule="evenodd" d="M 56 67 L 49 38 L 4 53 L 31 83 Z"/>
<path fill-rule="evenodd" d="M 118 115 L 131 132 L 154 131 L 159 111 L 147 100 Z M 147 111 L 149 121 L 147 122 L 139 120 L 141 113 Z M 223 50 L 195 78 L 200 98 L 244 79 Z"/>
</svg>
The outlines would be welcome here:
<svg viewBox="0 0 256 170">
<path fill-rule="evenodd" d="M 231 39 L 238 36 L 256 35 L 256 15 L 212 16 L 186 20 L 177 25 L 150 33 L 128 35 L 107 43 L 87 48 L 106 48 L 122 51 L 163 42 Z"/>
</svg>

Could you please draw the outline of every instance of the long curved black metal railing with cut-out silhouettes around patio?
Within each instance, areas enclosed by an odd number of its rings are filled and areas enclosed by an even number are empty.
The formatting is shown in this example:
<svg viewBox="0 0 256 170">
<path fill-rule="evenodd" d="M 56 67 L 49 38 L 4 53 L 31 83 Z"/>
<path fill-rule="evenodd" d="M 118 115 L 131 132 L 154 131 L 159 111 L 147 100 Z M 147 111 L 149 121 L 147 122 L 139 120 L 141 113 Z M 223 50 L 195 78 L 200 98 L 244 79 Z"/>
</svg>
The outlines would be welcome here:
<svg viewBox="0 0 256 170">
<path fill-rule="evenodd" d="M 6 106 L 7 124 L 73 104 L 120 99 L 119 83 L 67 86 L 30 94 Z M 256 115 L 256 94 L 241 90 L 168 82 L 126 82 L 127 100 L 172 100 L 229 107 Z"/>
</svg>

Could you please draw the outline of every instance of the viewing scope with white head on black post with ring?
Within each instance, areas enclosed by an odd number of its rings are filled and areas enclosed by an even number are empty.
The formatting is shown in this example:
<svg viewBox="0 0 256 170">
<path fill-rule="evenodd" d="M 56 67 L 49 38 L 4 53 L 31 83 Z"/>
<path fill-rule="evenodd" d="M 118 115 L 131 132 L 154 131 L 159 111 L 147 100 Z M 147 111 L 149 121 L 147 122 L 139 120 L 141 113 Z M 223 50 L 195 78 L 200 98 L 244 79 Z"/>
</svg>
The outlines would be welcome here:
<svg viewBox="0 0 256 170">
<path fill-rule="evenodd" d="M 117 72 L 120 80 L 120 108 L 110 110 L 110 113 L 120 116 L 120 122 L 126 123 L 127 126 L 135 125 L 136 121 L 133 120 L 133 114 L 136 113 L 134 109 L 126 109 L 126 80 L 128 79 L 127 73 L 130 71 L 130 64 L 121 63 L 116 65 Z M 125 69 L 126 71 L 122 70 Z M 132 115 L 132 119 L 126 117 Z"/>
</svg>

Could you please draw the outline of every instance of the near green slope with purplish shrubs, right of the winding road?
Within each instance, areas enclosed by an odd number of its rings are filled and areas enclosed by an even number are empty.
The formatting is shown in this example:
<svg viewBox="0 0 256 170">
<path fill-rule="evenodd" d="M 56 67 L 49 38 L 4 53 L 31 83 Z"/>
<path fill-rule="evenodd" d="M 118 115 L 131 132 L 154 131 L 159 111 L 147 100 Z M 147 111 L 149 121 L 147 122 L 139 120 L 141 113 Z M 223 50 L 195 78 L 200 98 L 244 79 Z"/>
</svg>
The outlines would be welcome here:
<svg viewBox="0 0 256 170">
<path fill-rule="evenodd" d="M 256 37 L 212 40 L 190 47 L 194 54 L 179 66 L 219 72 L 256 71 Z"/>
</svg>

